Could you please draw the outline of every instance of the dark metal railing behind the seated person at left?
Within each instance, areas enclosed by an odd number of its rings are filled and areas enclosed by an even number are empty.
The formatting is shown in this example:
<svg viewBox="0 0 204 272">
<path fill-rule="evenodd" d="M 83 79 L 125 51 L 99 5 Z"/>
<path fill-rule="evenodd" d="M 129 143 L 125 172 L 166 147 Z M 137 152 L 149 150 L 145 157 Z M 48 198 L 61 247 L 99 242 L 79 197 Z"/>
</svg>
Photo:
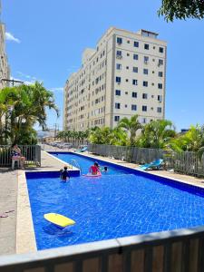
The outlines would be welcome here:
<svg viewBox="0 0 204 272">
<path fill-rule="evenodd" d="M 41 147 L 39 145 L 19 145 L 25 165 L 41 166 Z M 0 167 L 11 166 L 11 146 L 0 145 Z"/>
</svg>

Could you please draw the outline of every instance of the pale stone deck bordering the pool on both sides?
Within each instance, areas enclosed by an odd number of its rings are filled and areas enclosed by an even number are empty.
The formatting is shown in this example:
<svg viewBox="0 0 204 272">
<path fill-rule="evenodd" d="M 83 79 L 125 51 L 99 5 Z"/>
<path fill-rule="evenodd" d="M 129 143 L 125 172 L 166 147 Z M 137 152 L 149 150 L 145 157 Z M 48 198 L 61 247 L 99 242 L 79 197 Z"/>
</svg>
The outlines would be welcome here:
<svg viewBox="0 0 204 272">
<path fill-rule="evenodd" d="M 106 160 L 133 169 L 138 167 L 138 165 L 134 163 L 127 163 L 121 160 L 114 160 L 111 158 L 104 158 L 102 156 L 95 156 L 87 152 L 84 155 L 92 157 L 96 160 Z M 38 167 L 26 170 L 60 170 L 63 168 L 63 166 L 63 161 L 57 160 L 53 158 L 53 156 L 51 156 L 50 154 L 42 151 L 42 166 L 40 168 Z M 151 170 L 150 172 L 152 174 L 160 175 L 163 177 L 170 177 L 170 179 L 182 180 L 182 182 L 204 188 L 204 179 L 198 179 L 174 172 L 168 172 L 165 170 Z M 15 211 L 8 214 L 8 218 L 0 219 L 0 255 L 13 254 L 16 251 L 17 253 L 23 253 L 35 250 L 33 222 L 31 219 L 27 188 L 24 182 L 24 170 L 4 170 L 3 174 L 1 174 L 0 176 L 0 214 L 5 210 L 13 209 Z M 17 210 L 18 214 L 16 212 Z M 15 248 L 16 239 L 17 248 Z M 27 240 L 29 240 L 29 243 L 27 243 Z"/>
</svg>

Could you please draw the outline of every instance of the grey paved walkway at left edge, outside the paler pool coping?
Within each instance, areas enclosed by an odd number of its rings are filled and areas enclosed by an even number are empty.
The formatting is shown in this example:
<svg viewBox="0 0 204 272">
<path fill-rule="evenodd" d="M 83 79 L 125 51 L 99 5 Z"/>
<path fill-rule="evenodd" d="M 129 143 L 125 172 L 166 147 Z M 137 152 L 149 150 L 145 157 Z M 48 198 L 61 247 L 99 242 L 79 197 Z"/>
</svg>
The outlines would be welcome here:
<svg viewBox="0 0 204 272">
<path fill-rule="evenodd" d="M 17 170 L 0 170 L 0 215 L 5 211 L 7 218 L 0 218 L 0 255 L 15 253 Z"/>
</svg>

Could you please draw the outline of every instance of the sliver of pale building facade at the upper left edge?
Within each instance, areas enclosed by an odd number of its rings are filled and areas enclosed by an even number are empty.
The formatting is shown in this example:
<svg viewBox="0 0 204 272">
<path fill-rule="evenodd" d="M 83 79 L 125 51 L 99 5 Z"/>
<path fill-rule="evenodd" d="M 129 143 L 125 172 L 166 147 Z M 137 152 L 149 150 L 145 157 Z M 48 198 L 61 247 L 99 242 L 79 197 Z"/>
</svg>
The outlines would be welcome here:
<svg viewBox="0 0 204 272">
<path fill-rule="evenodd" d="M 0 1 L 0 15 L 1 15 L 1 1 Z M 8 82 L 4 81 L 10 79 L 10 69 L 7 61 L 7 55 L 5 53 L 5 24 L 0 21 L 0 90 L 8 85 Z"/>
</svg>

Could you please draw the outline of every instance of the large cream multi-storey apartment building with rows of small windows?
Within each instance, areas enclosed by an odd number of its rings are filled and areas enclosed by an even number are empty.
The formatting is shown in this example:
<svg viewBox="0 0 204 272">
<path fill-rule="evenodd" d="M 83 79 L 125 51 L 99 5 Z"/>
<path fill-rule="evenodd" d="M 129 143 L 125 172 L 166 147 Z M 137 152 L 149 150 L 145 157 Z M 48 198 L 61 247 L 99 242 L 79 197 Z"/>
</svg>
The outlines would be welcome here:
<svg viewBox="0 0 204 272">
<path fill-rule="evenodd" d="M 167 44 L 158 34 L 111 27 L 64 87 L 63 130 L 114 128 L 138 114 L 141 123 L 165 116 Z"/>
</svg>

